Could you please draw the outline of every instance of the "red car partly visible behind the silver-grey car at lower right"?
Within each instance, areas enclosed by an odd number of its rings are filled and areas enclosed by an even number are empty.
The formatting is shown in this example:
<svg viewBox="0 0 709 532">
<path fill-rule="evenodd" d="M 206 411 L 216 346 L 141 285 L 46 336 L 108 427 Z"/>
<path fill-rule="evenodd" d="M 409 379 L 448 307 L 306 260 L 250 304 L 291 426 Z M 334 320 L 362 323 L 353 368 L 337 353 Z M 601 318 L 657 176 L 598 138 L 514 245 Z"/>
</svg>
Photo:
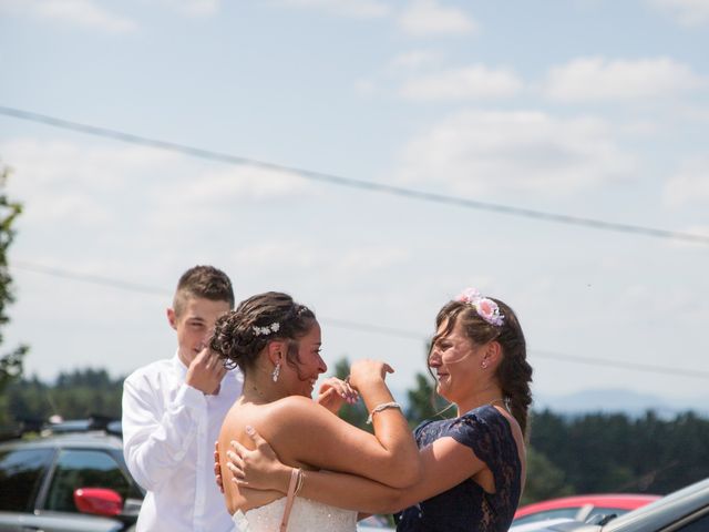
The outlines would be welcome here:
<svg viewBox="0 0 709 532">
<path fill-rule="evenodd" d="M 547 519 L 568 518 L 586 521 L 598 513 L 609 514 L 629 512 L 636 508 L 656 501 L 660 495 L 607 493 L 590 495 L 563 497 L 548 501 L 535 502 L 517 509 L 512 524 L 524 524 Z"/>
</svg>

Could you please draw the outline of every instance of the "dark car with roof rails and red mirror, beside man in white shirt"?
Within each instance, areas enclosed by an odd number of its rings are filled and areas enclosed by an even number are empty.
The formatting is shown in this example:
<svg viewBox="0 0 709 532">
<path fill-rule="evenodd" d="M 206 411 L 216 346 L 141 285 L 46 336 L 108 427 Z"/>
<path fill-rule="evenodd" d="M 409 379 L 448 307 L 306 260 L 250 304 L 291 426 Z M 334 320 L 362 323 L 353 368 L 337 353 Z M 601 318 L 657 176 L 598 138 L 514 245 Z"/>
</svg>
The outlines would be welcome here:
<svg viewBox="0 0 709 532">
<path fill-rule="evenodd" d="M 0 442 L 0 532 L 133 530 L 144 493 L 111 432 L 79 420 Z"/>
</svg>

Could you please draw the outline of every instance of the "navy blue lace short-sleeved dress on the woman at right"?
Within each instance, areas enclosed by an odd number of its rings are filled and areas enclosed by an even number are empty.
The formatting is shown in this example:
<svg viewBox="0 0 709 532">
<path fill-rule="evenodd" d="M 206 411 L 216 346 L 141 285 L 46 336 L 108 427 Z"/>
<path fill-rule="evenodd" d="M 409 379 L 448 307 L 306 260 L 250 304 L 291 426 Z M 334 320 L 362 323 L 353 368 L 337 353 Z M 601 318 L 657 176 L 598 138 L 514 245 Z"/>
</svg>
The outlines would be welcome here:
<svg viewBox="0 0 709 532">
<path fill-rule="evenodd" d="M 471 479 L 439 493 L 400 515 L 398 532 L 506 532 L 522 491 L 522 464 L 507 419 L 485 405 L 455 419 L 425 421 L 415 432 L 419 449 L 451 437 L 470 447 L 495 480 L 487 493 Z"/>
</svg>

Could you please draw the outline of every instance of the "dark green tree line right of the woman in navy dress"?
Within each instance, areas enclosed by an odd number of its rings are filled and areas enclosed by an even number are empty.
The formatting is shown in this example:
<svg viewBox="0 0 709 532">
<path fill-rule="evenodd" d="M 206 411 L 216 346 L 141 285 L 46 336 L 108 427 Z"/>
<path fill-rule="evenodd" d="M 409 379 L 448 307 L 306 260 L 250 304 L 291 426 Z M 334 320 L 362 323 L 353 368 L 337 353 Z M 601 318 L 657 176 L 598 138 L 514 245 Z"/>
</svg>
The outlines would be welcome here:
<svg viewBox="0 0 709 532">
<path fill-rule="evenodd" d="M 708 442 L 709 420 L 692 412 L 662 420 L 654 412 L 564 418 L 545 410 L 534 415 L 531 438 L 576 493 L 668 493 L 709 477 Z"/>
</svg>

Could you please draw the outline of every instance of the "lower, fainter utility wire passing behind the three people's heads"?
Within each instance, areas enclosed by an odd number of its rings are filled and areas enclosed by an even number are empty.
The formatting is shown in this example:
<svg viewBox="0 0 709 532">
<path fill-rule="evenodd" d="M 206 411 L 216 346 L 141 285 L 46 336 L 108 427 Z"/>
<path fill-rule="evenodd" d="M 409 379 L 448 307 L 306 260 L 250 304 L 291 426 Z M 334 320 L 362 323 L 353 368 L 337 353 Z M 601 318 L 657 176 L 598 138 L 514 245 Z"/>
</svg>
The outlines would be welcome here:
<svg viewBox="0 0 709 532">
<path fill-rule="evenodd" d="M 126 283 L 123 280 L 117 280 L 117 279 L 97 276 L 97 275 L 80 274 L 76 272 L 69 272 L 65 269 L 42 266 L 33 263 L 28 263 L 24 260 L 14 260 L 11 263 L 10 266 L 12 268 L 24 269 L 28 272 L 34 272 L 39 274 L 45 274 L 54 277 L 62 277 L 65 279 L 78 280 L 81 283 L 91 283 L 91 284 L 101 285 L 101 286 L 109 286 L 109 287 L 117 288 L 122 290 L 140 291 L 143 294 L 151 294 L 151 295 L 169 296 L 169 291 L 164 288 L 137 285 L 134 283 Z M 411 330 L 399 329 L 393 327 L 382 327 L 382 326 L 371 325 L 371 324 L 362 324 L 358 321 L 350 321 L 350 320 L 345 320 L 339 318 L 321 317 L 321 319 L 323 323 L 328 323 L 332 327 L 340 327 L 346 329 L 360 330 L 363 332 L 373 332 L 378 335 L 404 338 L 408 340 L 419 341 L 424 345 L 428 345 L 428 342 L 430 341 L 430 336 L 421 335 L 419 332 L 413 332 Z M 612 360 L 612 359 L 603 359 L 603 358 L 577 357 L 577 356 L 563 355 L 559 352 L 537 350 L 537 349 L 531 349 L 530 354 L 535 357 L 551 358 L 555 360 L 562 360 L 564 362 L 584 364 L 588 366 L 602 366 L 604 368 L 631 369 L 634 371 L 645 371 L 650 374 L 677 375 L 680 377 L 709 379 L 709 372 L 697 371 L 695 369 L 670 368 L 667 366 L 655 366 L 655 365 L 639 364 L 639 362 L 624 362 L 621 360 Z"/>
</svg>

